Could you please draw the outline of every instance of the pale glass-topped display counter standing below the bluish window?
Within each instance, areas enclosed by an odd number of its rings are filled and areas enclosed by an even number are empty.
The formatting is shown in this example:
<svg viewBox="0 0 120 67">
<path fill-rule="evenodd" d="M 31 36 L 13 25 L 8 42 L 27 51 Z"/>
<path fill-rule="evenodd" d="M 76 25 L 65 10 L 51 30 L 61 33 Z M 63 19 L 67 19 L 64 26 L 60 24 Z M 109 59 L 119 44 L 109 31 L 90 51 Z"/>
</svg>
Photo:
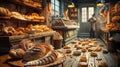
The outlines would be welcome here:
<svg viewBox="0 0 120 67">
<path fill-rule="evenodd" d="M 55 18 L 52 23 L 52 29 L 59 32 L 63 37 L 63 46 L 77 37 L 77 28 L 71 20 Z"/>
</svg>

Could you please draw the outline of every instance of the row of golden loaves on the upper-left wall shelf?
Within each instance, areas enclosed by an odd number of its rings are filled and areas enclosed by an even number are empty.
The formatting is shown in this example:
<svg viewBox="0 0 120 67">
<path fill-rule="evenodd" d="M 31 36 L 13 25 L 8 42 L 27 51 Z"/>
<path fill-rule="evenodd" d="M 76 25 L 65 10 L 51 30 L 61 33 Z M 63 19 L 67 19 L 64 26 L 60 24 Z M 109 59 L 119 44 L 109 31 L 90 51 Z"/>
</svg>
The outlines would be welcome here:
<svg viewBox="0 0 120 67">
<path fill-rule="evenodd" d="M 14 11 L 9 11 L 7 8 L 0 7 L 0 16 L 1 17 L 10 17 L 14 19 L 19 19 L 19 20 L 25 20 L 25 21 L 38 21 L 40 20 L 45 20 L 44 16 L 40 16 L 37 13 L 31 13 L 29 15 L 24 15 L 19 12 L 14 12 Z"/>
</svg>

